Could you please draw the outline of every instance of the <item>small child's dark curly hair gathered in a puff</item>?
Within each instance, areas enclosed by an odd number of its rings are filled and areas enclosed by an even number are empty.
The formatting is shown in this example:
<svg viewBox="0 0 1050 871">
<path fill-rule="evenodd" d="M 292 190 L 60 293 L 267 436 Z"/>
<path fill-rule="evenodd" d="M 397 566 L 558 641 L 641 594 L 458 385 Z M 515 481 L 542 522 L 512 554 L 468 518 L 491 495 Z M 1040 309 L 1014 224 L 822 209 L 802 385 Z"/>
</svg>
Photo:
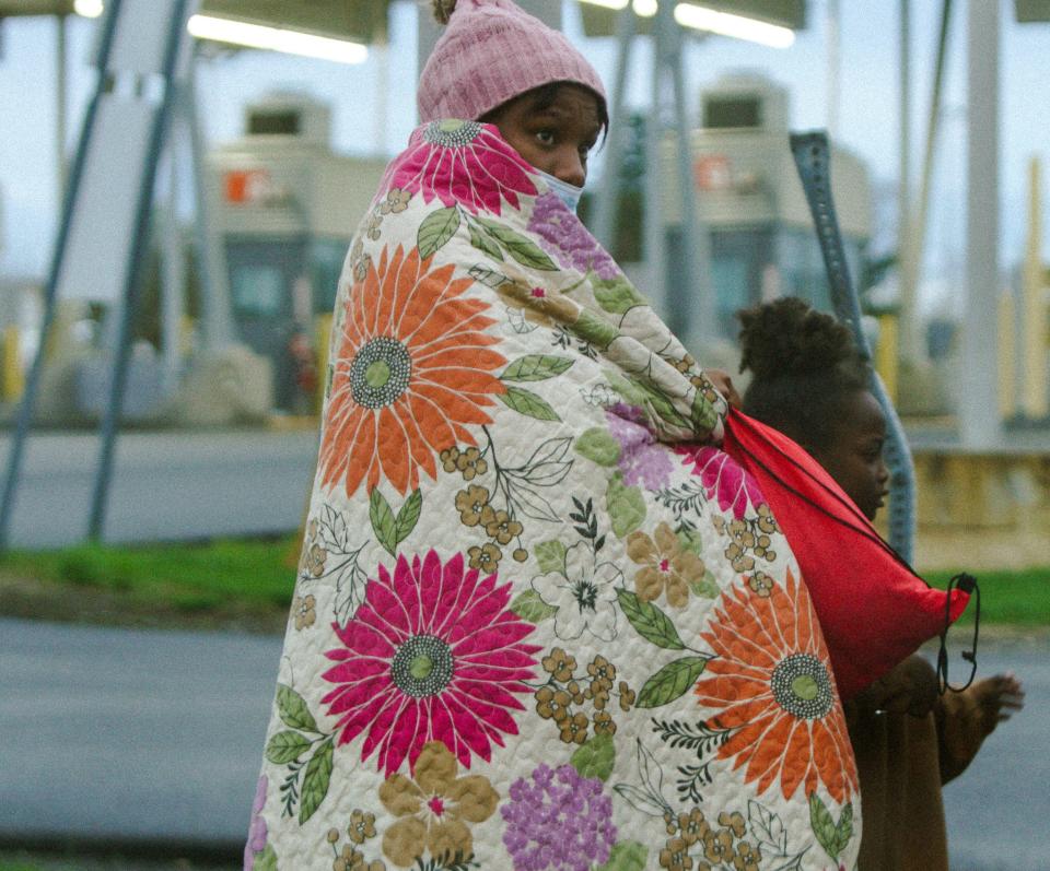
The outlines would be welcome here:
<svg viewBox="0 0 1050 871">
<path fill-rule="evenodd" d="M 871 384 L 850 330 L 795 296 L 736 316 L 740 372 L 754 376 L 744 411 L 807 448 L 827 447 L 843 400 Z"/>
</svg>

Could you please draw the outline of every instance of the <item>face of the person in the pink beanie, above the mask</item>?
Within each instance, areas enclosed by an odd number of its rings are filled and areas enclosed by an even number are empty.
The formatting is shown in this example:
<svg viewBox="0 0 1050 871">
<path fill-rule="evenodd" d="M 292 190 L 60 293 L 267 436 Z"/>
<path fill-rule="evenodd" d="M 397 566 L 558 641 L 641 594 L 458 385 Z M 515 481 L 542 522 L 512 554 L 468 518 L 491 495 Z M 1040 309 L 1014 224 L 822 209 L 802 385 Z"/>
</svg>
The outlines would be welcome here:
<svg viewBox="0 0 1050 871">
<path fill-rule="evenodd" d="M 530 91 L 485 120 L 528 163 L 578 188 L 587 177 L 587 156 L 598 141 L 598 98 L 586 87 L 559 85 L 553 99 Z"/>
</svg>

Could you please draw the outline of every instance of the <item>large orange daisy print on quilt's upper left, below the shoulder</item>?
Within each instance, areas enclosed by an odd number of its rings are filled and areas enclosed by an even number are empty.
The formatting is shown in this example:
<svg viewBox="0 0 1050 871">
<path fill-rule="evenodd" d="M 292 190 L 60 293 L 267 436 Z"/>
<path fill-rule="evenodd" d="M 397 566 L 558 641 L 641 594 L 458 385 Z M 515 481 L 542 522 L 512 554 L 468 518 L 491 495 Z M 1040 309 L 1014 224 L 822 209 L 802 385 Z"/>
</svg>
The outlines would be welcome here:
<svg viewBox="0 0 1050 871">
<path fill-rule="evenodd" d="M 320 446 L 322 483 L 352 496 L 385 478 L 400 493 L 436 475 L 435 456 L 475 444 L 469 426 L 506 391 L 506 360 L 485 330 L 488 304 L 463 296 L 470 279 L 430 269 L 419 250 L 386 248 L 347 296 Z"/>
</svg>

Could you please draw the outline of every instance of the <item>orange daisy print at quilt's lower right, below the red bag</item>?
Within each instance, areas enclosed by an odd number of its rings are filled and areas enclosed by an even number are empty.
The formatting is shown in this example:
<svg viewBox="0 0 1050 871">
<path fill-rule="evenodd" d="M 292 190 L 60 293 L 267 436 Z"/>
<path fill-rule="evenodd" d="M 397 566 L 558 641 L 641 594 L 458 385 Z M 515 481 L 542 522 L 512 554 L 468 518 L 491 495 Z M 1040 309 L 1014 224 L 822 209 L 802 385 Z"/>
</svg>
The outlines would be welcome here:
<svg viewBox="0 0 1050 871">
<path fill-rule="evenodd" d="M 719 748 L 759 795 L 780 781 L 785 799 L 800 784 L 807 796 L 820 781 L 839 803 L 856 790 L 845 718 L 828 666 L 828 650 L 805 586 L 788 573 L 785 586 L 759 595 L 727 590 L 715 622 L 701 633 L 715 658 L 693 692 L 720 711 L 709 728 L 732 729 Z"/>
</svg>

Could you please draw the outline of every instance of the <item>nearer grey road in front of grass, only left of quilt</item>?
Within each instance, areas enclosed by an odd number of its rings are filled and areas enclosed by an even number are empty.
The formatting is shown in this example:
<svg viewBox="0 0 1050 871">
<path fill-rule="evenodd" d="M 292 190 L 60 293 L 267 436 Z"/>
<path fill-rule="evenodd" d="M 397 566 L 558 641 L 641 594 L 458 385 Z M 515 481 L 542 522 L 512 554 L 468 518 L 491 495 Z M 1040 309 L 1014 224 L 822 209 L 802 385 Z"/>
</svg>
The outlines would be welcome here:
<svg viewBox="0 0 1050 871">
<path fill-rule="evenodd" d="M 280 648 L 0 620 L 0 838 L 243 843 Z"/>
</svg>

